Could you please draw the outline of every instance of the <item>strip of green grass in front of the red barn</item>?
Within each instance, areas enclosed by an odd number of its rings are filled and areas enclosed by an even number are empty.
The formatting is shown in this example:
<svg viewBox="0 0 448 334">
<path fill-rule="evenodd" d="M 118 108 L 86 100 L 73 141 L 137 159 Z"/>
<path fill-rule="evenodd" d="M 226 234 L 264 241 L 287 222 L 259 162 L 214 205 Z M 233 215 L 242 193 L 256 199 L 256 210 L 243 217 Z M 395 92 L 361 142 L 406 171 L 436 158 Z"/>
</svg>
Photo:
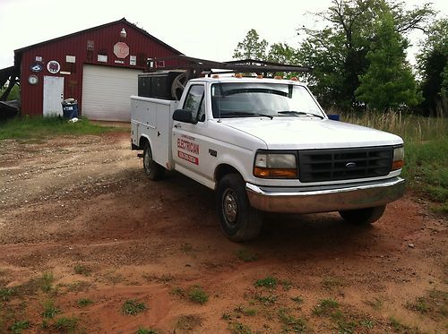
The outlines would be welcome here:
<svg viewBox="0 0 448 334">
<path fill-rule="evenodd" d="M 71 123 L 66 119 L 55 117 L 16 117 L 0 123 L 0 140 L 4 139 L 39 139 L 52 135 L 100 134 L 116 128 L 91 124 L 87 118 Z"/>
</svg>

